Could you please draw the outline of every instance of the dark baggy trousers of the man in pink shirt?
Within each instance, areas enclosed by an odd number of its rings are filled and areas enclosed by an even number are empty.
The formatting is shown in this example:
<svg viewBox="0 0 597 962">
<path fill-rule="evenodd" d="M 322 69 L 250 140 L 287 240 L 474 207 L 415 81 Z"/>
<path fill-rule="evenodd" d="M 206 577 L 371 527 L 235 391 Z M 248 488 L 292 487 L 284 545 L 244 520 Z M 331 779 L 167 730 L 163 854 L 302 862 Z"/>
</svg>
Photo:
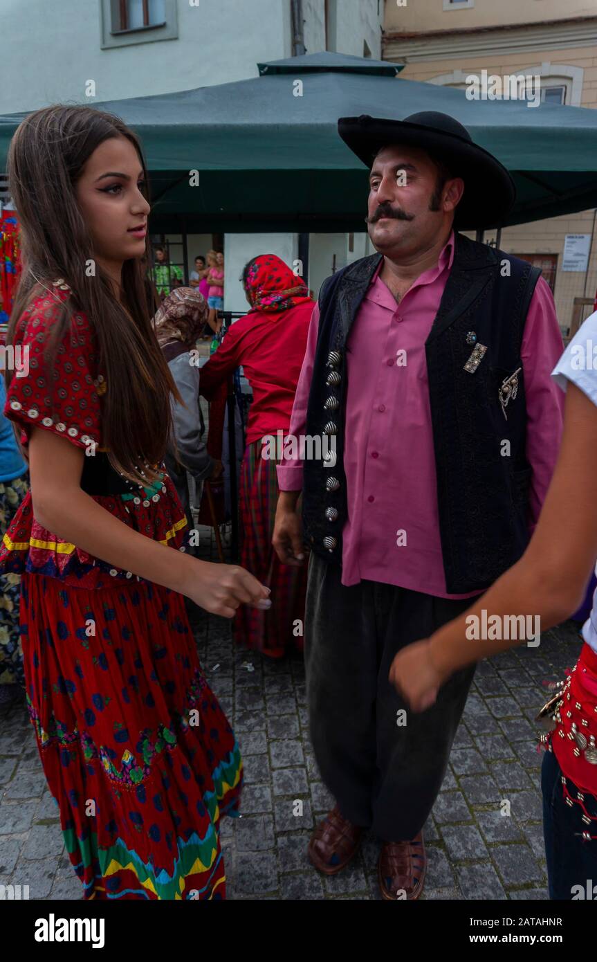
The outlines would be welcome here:
<svg viewBox="0 0 597 962">
<path fill-rule="evenodd" d="M 475 666 L 452 675 L 419 714 L 390 684 L 389 669 L 401 648 L 428 638 L 471 599 L 376 581 L 347 588 L 340 577 L 338 565 L 311 554 L 305 662 L 315 760 L 346 819 L 406 841 L 434 806 Z"/>
</svg>

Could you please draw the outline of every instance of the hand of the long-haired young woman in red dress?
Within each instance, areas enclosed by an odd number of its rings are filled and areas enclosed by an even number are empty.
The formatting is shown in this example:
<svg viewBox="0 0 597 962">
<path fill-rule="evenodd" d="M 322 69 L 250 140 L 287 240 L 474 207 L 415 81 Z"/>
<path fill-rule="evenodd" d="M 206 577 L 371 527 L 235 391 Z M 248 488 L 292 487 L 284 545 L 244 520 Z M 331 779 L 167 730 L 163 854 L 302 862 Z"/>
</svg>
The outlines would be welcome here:
<svg viewBox="0 0 597 962">
<path fill-rule="evenodd" d="M 187 597 L 211 615 L 234 618 L 241 604 L 271 608 L 270 589 L 238 565 L 214 565 L 187 556 L 192 563 L 187 575 Z"/>
</svg>

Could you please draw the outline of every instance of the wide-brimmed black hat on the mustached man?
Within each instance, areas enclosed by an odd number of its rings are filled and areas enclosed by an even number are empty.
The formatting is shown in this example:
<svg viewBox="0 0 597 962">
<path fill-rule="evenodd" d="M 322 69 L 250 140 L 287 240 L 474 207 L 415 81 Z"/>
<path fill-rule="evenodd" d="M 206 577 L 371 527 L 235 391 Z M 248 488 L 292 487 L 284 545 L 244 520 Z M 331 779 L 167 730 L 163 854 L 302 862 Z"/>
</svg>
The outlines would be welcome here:
<svg viewBox="0 0 597 962">
<path fill-rule="evenodd" d="M 458 120 L 437 111 L 410 114 L 404 120 L 340 117 L 338 134 L 369 169 L 382 147 L 409 144 L 427 150 L 464 181 L 455 213 L 460 230 L 501 227 L 514 204 L 516 189 L 506 167 L 473 139 Z"/>
</svg>

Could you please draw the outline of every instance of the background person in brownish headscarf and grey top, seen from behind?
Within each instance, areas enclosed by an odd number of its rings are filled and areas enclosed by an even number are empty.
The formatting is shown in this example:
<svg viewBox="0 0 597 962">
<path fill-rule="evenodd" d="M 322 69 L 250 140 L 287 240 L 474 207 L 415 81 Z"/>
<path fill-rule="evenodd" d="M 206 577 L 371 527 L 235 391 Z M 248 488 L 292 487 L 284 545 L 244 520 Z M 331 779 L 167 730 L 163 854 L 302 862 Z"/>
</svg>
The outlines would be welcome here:
<svg viewBox="0 0 597 962">
<path fill-rule="evenodd" d="M 202 441 L 205 425 L 199 403 L 199 367 L 196 356 L 190 354 L 195 349 L 207 316 L 205 298 L 192 288 L 171 291 L 154 316 L 158 343 L 186 405 L 171 398 L 174 437 L 168 444 L 164 460 L 190 528 L 194 525 L 187 471 L 198 486 L 207 478 L 217 480 L 222 473 L 221 461 L 211 458 Z"/>
</svg>

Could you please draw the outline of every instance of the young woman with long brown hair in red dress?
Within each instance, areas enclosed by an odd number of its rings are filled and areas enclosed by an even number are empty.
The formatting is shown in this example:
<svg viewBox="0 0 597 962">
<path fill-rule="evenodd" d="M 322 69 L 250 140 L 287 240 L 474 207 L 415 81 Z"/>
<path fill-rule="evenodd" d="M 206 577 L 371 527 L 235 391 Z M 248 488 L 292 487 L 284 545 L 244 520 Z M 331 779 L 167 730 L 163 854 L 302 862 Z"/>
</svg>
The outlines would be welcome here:
<svg viewBox="0 0 597 962">
<path fill-rule="evenodd" d="M 226 618 L 269 601 L 247 571 L 185 553 L 140 145 L 110 114 L 51 107 L 16 131 L 9 176 L 23 243 L 9 342 L 29 370 L 5 410 L 31 492 L 0 570 L 22 574 L 27 704 L 66 848 L 86 899 L 223 899 L 218 824 L 237 814 L 242 764 L 183 595 Z"/>
</svg>

